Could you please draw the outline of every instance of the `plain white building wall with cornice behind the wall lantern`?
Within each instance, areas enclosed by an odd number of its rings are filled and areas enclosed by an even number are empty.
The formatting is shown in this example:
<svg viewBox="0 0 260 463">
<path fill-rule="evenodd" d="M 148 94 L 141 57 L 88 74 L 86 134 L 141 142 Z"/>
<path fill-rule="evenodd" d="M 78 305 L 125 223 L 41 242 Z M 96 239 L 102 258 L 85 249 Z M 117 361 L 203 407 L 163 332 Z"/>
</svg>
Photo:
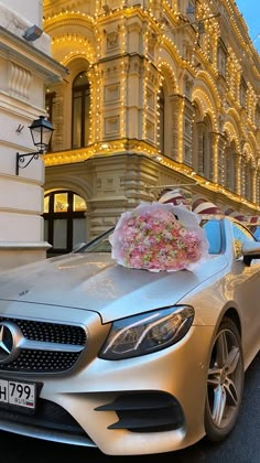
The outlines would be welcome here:
<svg viewBox="0 0 260 463">
<path fill-rule="evenodd" d="M 23 37 L 42 25 L 42 1 L 0 1 L 0 270 L 44 259 L 44 163 L 32 160 L 15 174 L 17 152 L 35 151 L 29 126 L 45 115 L 45 84 L 65 68 L 50 56 L 50 37 Z M 30 158 L 25 158 L 29 160 Z M 25 161 L 26 162 L 26 161 Z"/>
</svg>

